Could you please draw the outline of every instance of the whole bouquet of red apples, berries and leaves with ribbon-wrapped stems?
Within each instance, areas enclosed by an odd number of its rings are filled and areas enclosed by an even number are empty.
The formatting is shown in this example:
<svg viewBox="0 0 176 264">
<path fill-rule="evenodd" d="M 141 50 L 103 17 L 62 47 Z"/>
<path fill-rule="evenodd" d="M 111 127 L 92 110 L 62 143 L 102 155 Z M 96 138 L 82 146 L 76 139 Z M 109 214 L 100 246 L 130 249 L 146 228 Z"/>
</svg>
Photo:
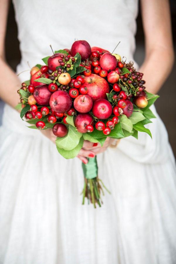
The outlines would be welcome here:
<svg viewBox="0 0 176 264">
<path fill-rule="evenodd" d="M 51 47 L 52 49 L 52 47 Z M 52 50 L 53 51 L 53 50 Z M 52 129 L 56 147 L 66 159 L 77 156 L 84 140 L 103 146 L 115 140 L 148 133 L 145 125 L 154 118 L 150 105 L 158 98 L 145 91 L 143 73 L 133 62 L 87 41 L 75 41 L 71 50 L 53 52 L 31 69 L 31 78 L 17 92 L 21 118 L 32 129 Z M 101 206 L 106 189 L 98 178 L 96 156 L 82 163 L 83 201 Z"/>
</svg>

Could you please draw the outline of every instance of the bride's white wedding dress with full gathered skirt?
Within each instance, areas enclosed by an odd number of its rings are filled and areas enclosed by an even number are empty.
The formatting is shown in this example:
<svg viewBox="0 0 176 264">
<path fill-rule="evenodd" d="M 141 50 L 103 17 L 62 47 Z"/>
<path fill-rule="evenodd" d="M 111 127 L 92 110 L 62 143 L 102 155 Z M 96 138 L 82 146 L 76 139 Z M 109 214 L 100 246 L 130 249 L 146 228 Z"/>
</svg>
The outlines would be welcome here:
<svg viewBox="0 0 176 264">
<path fill-rule="evenodd" d="M 13 0 L 21 63 L 28 69 L 75 38 L 133 59 L 138 1 Z M 14 51 L 15 52 L 15 51 Z M 29 79 L 29 72 L 20 76 Z M 19 113 L 5 106 L 0 128 L 0 263 L 176 263 L 175 161 L 157 116 L 116 149 L 98 155 L 110 189 L 96 210 L 81 205 L 79 159 L 66 160 Z"/>
</svg>

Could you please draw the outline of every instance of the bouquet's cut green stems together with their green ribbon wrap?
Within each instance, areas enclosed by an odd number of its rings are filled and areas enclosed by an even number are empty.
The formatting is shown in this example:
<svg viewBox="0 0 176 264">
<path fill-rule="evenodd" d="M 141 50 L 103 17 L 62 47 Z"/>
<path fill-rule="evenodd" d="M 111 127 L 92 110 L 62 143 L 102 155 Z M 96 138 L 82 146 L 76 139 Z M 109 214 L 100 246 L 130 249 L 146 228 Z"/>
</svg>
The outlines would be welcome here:
<svg viewBox="0 0 176 264">
<path fill-rule="evenodd" d="M 88 204 L 92 203 L 94 208 L 96 208 L 96 204 L 101 207 L 103 204 L 101 200 L 101 193 L 104 195 L 103 188 L 109 192 L 110 191 L 104 186 L 102 180 L 98 178 L 98 165 L 97 165 L 97 157 L 88 159 L 88 163 L 82 163 L 82 168 L 84 172 L 84 188 L 82 191 L 83 199 L 82 204 L 84 204 L 85 197 L 88 199 Z M 102 188 L 103 187 L 103 188 Z"/>
</svg>

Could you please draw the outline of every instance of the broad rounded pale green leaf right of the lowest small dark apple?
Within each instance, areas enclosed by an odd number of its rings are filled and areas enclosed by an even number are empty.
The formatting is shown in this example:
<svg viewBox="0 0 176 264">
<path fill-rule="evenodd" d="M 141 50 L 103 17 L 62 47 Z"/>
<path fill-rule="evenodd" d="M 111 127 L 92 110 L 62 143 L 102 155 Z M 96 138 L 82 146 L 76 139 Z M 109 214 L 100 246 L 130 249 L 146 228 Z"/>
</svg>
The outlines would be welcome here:
<svg viewBox="0 0 176 264">
<path fill-rule="evenodd" d="M 56 145 L 60 149 L 72 150 L 79 143 L 79 139 L 82 137 L 82 133 L 76 131 L 76 128 L 68 125 L 68 133 L 65 137 L 58 137 Z"/>
</svg>

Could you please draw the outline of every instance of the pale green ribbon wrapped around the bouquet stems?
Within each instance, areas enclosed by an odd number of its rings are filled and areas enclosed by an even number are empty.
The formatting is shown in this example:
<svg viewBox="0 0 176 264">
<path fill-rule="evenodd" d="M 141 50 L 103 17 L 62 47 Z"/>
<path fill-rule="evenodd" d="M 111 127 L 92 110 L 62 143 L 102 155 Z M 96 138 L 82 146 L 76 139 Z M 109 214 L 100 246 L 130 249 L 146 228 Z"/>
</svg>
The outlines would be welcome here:
<svg viewBox="0 0 176 264">
<path fill-rule="evenodd" d="M 88 158 L 88 163 L 84 164 L 82 162 L 82 169 L 84 172 L 84 177 L 86 179 L 94 179 L 98 175 L 98 165 L 97 165 L 97 156 L 94 158 Z"/>
</svg>

